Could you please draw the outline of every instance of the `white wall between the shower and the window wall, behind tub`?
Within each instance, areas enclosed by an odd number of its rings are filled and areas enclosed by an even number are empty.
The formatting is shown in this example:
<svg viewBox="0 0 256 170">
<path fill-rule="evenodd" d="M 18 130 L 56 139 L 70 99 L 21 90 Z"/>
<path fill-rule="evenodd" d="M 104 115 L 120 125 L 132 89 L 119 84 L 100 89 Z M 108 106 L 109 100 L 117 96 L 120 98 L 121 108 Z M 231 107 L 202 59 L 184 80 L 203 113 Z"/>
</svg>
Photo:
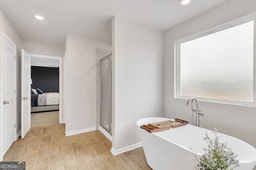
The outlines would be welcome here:
<svg viewBox="0 0 256 170">
<path fill-rule="evenodd" d="M 115 17 L 112 45 L 111 151 L 118 154 L 140 143 L 138 119 L 163 116 L 163 32 Z"/>
</svg>

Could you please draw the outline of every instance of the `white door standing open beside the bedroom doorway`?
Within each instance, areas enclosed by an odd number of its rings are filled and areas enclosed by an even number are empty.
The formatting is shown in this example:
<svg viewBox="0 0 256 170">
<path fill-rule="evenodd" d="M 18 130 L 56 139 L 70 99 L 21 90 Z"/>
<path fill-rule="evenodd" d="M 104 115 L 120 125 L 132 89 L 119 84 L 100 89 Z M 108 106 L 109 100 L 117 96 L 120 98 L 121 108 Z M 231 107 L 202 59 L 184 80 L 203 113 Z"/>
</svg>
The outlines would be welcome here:
<svg viewBox="0 0 256 170">
<path fill-rule="evenodd" d="M 21 138 L 23 139 L 31 126 L 31 56 L 24 49 L 22 49 L 21 65 Z"/>
</svg>

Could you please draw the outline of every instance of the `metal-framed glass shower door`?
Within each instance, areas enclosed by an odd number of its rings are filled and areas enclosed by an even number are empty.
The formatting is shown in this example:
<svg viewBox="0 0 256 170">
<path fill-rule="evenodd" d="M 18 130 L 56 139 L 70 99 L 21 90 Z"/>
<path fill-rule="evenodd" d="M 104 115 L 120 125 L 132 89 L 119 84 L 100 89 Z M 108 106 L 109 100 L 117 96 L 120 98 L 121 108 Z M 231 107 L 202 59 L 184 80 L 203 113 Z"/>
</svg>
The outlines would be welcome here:
<svg viewBox="0 0 256 170">
<path fill-rule="evenodd" d="M 112 135 L 112 54 L 100 60 L 100 125 Z"/>
</svg>

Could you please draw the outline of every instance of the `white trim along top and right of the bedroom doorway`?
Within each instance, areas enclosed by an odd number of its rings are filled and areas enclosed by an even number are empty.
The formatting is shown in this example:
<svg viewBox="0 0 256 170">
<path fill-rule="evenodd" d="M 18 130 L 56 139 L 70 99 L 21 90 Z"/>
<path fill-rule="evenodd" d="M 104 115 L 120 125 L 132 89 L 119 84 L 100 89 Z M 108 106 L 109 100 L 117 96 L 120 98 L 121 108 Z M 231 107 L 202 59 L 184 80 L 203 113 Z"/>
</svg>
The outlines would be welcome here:
<svg viewBox="0 0 256 170">
<path fill-rule="evenodd" d="M 65 119 L 62 119 L 62 106 L 63 106 L 63 103 L 62 103 L 62 87 L 63 87 L 63 84 L 62 84 L 62 72 L 63 72 L 63 69 L 62 69 L 62 57 L 57 57 L 57 56 L 50 56 L 50 55 L 38 55 L 38 54 L 30 54 L 31 57 L 37 57 L 37 58 L 44 58 L 44 59 L 57 59 L 59 60 L 59 94 L 60 94 L 60 105 L 59 105 L 59 123 L 66 123 L 66 120 Z M 63 116 L 65 117 L 65 116 Z"/>
</svg>

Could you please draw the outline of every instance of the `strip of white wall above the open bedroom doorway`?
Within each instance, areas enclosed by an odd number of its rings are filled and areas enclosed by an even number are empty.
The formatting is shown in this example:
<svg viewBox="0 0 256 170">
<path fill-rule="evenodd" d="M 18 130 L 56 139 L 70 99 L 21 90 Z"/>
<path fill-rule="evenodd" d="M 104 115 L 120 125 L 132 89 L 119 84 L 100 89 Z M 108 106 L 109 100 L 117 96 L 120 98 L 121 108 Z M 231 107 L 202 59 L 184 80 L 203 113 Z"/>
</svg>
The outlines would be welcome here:
<svg viewBox="0 0 256 170">
<path fill-rule="evenodd" d="M 50 55 L 56 57 L 63 57 L 65 52 L 64 46 L 46 45 L 27 41 L 23 41 L 23 49 L 29 54 Z"/>
</svg>

